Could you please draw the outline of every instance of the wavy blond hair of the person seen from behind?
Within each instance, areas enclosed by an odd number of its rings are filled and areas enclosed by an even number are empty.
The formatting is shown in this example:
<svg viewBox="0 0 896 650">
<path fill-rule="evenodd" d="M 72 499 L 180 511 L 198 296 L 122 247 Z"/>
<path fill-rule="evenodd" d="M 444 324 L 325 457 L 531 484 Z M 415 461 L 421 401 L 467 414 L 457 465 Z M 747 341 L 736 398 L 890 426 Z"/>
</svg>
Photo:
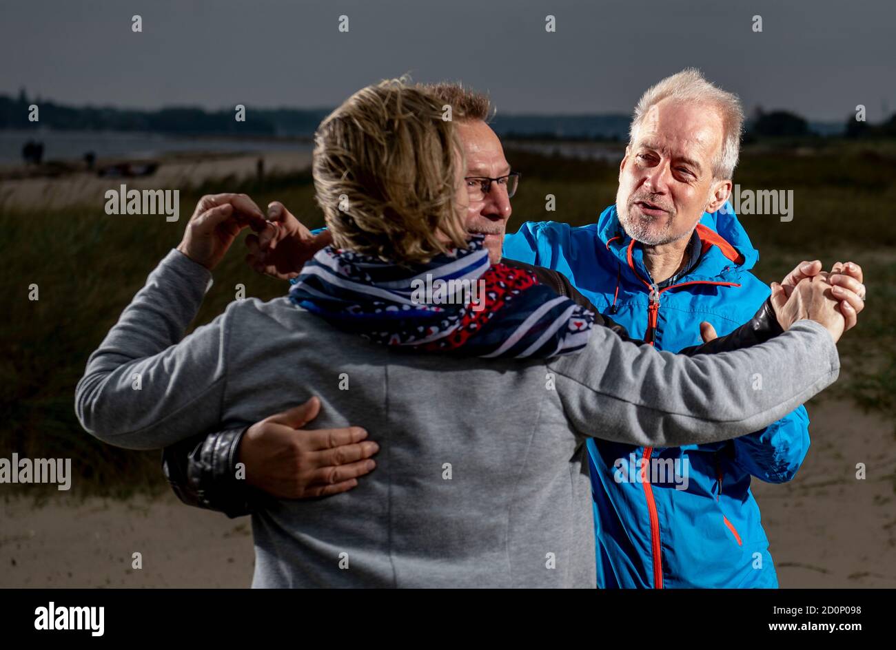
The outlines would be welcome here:
<svg viewBox="0 0 896 650">
<path fill-rule="evenodd" d="M 314 189 L 333 244 L 383 261 L 425 263 L 467 246 L 462 166 L 442 104 L 403 78 L 358 90 L 314 134 Z"/>
</svg>

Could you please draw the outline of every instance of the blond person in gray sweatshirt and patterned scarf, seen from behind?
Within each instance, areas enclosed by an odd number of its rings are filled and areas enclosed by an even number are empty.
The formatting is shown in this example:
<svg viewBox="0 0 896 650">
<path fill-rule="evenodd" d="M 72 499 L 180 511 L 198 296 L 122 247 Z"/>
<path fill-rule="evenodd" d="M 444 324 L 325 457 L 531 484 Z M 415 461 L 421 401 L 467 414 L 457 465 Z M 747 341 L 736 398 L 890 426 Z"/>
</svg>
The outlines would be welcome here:
<svg viewBox="0 0 896 650">
<path fill-rule="evenodd" d="M 381 451 L 358 488 L 254 511 L 253 586 L 593 588 L 587 435 L 725 440 L 837 378 L 844 321 L 822 277 L 773 296 L 779 337 L 688 357 L 594 327 L 531 274 L 489 264 L 463 227 L 461 151 L 428 94 L 358 91 L 315 137 L 335 245 L 288 297 L 237 301 L 184 336 L 211 270 L 263 218 L 244 195 L 206 196 L 90 355 L 75 410 L 120 447 L 246 426 L 312 394 L 324 426 L 371 423 Z"/>
</svg>

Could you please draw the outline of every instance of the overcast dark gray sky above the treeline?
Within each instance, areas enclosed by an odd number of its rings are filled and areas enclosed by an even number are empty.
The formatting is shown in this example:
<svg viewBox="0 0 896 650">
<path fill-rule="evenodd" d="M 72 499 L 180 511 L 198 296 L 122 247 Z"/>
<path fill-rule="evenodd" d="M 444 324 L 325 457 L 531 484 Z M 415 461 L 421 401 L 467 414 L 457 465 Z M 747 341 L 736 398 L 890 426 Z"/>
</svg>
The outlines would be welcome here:
<svg viewBox="0 0 896 650">
<path fill-rule="evenodd" d="M 881 0 L 4 0 L 0 13 L 0 92 L 75 105 L 330 107 L 409 72 L 488 90 L 504 113 L 628 113 L 694 65 L 748 111 L 896 110 L 896 3 Z"/>
</svg>

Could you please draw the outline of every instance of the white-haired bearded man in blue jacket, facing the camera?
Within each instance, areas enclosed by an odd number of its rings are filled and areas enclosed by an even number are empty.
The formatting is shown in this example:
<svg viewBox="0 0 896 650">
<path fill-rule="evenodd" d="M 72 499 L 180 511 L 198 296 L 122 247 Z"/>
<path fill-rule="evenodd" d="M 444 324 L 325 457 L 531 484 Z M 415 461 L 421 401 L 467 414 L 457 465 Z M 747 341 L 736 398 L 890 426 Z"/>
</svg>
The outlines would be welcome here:
<svg viewBox="0 0 896 650">
<path fill-rule="evenodd" d="M 699 342 L 698 323 L 704 337 L 737 328 L 769 295 L 727 202 L 743 122 L 737 96 L 697 70 L 659 81 L 634 109 L 616 204 L 590 226 L 527 223 L 504 255 L 559 270 L 599 312 L 664 350 Z M 864 295 L 860 275 L 849 279 Z M 718 444 L 589 440 L 598 586 L 778 586 L 750 477 L 790 480 L 808 447 L 803 406 Z"/>
</svg>

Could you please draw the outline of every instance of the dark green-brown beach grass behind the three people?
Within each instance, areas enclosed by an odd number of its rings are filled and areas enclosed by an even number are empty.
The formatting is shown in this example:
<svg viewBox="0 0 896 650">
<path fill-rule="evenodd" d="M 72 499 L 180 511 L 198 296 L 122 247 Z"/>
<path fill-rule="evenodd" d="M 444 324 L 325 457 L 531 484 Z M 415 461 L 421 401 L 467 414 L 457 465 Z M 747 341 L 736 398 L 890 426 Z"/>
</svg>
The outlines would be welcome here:
<svg viewBox="0 0 896 650">
<path fill-rule="evenodd" d="M 519 150 L 508 150 L 508 158 L 523 174 L 510 232 L 527 220 L 588 224 L 615 200 L 617 162 Z M 862 264 L 868 307 L 860 328 L 841 345 L 842 379 L 823 397 L 896 420 L 896 225 L 888 210 L 896 200 L 894 171 L 896 150 L 890 145 L 843 143 L 814 152 L 747 150 L 736 181 L 743 188 L 794 191 L 789 223 L 772 216 L 741 218 L 761 252 L 755 272 L 762 280 L 780 279 L 797 261 L 814 257 L 826 266 L 847 259 Z M 263 184 L 220 178 L 181 188 L 181 217 L 175 223 L 164 215 L 107 215 L 101 196 L 95 204 L 68 210 L 3 210 L 0 457 L 16 451 L 30 458 L 72 458 L 73 491 L 85 495 L 125 497 L 165 489 L 159 452 L 116 449 L 82 430 L 73 411 L 74 386 L 90 352 L 180 241 L 198 198 L 224 191 L 246 192 L 261 206 L 282 201 L 308 227 L 323 223 L 306 172 L 269 175 Z M 548 193 L 556 197 L 555 212 L 545 210 Z M 246 296 L 263 300 L 286 293 L 285 283 L 248 269 L 244 256 L 238 241 L 216 269 L 194 325 L 222 312 L 237 285 L 246 287 Z M 32 285 L 39 300 L 29 299 Z"/>
</svg>

